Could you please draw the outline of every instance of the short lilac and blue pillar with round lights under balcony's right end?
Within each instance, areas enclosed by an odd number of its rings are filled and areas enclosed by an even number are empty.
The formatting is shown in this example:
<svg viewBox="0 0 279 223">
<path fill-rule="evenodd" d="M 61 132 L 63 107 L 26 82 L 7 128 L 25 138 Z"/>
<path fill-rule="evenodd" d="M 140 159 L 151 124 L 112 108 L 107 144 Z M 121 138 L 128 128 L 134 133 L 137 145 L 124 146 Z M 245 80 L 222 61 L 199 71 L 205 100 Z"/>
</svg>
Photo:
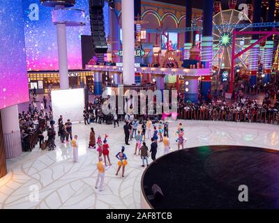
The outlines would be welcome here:
<svg viewBox="0 0 279 223">
<path fill-rule="evenodd" d="M 197 102 L 199 80 L 195 78 L 184 79 L 184 101 Z"/>
</svg>

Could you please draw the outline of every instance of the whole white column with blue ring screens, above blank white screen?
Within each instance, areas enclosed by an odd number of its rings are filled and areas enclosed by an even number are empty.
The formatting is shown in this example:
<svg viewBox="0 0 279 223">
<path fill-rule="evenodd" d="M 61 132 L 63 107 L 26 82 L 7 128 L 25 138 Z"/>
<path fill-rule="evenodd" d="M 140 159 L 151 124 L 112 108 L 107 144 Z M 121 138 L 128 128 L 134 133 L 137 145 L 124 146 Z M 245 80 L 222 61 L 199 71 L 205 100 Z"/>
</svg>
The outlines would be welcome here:
<svg viewBox="0 0 279 223">
<path fill-rule="evenodd" d="M 52 7 L 52 22 L 56 25 L 59 58 L 60 89 L 69 89 L 66 26 L 84 26 L 84 10 L 71 9 L 75 0 L 40 0 L 43 6 Z"/>
</svg>

